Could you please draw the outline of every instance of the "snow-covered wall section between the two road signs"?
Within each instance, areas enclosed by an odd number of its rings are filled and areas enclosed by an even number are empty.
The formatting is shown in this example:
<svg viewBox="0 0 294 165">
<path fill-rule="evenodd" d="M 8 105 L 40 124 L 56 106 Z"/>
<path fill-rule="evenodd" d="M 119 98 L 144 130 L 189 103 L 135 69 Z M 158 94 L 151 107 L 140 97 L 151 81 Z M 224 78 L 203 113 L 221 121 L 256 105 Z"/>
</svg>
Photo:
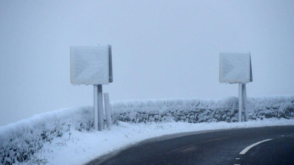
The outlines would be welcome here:
<svg viewBox="0 0 294 165">
<path fill-rule="evenodd" d="M 231 121 L 238 99 L 149 99 L 112 102 L 114 120 L 126 122 L 184 121 L 190 123 Z"/>
</svg>

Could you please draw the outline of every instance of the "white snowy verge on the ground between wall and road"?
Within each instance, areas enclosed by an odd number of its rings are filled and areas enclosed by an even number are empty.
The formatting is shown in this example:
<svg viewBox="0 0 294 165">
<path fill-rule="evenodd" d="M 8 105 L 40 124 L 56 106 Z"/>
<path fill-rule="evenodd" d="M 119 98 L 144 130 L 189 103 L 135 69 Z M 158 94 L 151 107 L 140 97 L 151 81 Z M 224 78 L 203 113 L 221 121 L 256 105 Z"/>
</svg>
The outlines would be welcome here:
<svg viewBox="0 0 294 165">
<path fill-rule="evenodd" d="M 83 164 L 112 151 L 117 151 L 145 139 L 191 131 L 217 130 L 230 128 L 249 128 L 264 126 L 294 125 L 294 119 L 263 119 L 242 123 L 184 123 L 169 122 L 147 124 L 128 124 L 119 121 L 111 130 L 81 132 L 71 128 L 61 137 L 46 142 L 42 151 L 35 154 L 34 160 L 46 160 L 48 164 Z M 32 163 L 31 161 L 26 163 Z"/>
</svg>

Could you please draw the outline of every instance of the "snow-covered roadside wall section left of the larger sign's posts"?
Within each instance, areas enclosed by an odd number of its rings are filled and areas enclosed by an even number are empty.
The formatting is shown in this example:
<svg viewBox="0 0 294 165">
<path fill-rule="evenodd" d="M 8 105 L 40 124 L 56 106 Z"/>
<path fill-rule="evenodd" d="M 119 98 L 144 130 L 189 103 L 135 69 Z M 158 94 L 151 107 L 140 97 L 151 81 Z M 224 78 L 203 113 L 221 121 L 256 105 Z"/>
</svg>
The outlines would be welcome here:
<svg viewBox="0 0 294 165">
<path fill-rule="evenodd" d="M 70 125 L 77 130 L 93 126 L 93 107 L 63 108 L 0 127 L 0 164 L 28 160 L 43 142 L 62 136 Z"/>
</svg>

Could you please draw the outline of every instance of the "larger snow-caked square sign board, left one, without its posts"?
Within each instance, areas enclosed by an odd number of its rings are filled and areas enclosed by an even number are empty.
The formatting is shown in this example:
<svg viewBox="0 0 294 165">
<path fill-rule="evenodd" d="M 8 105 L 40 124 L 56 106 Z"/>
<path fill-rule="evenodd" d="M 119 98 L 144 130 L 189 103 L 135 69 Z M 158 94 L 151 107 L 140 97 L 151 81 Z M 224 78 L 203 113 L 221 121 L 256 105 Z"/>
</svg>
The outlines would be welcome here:
<svg viewBox="0 0 294 165">
<path fill-rule="evenodd" d="M 111 45 L 71 46 L 70 83 L 103 85 L 112 82 Z"/>
</svg>

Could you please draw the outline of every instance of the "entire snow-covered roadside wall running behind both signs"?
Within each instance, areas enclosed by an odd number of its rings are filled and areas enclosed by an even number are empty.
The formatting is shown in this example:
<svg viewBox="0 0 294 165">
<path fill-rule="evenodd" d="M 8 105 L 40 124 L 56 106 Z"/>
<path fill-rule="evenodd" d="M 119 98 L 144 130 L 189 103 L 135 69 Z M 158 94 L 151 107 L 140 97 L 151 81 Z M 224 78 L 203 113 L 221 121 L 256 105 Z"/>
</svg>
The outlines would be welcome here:
<svg viewBox="0 0 294 165">
<path fill-rule="evenodd" d="M 294 96 L 247 99 L 249 118 L 294 118 Z M 149 99 L 111 102 L 113 121 L 190 123 L 237 121 L 238 98 Z M 0 164 L 23 162 L 39 151 L 43 142 L 61 136 L 70 126 L 93 127 L 93 107 L 64 108 L 0 127 Z"/>
</svg>

